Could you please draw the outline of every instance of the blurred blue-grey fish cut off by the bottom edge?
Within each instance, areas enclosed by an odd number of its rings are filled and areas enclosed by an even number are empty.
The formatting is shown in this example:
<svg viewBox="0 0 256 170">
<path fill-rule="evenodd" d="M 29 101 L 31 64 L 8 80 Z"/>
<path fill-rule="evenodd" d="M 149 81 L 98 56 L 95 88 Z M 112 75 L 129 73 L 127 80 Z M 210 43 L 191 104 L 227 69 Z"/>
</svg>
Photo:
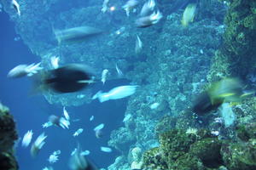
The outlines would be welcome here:
<svg viewBox="0 0 256 170">
<path fill-rule="evenodd" d="M 82 153 L 83 152 L 78 145 L 77 150 L 73 156 L 70 157 L 68 163 L 69 168 L 72 170 L 98 170 L 98 168 L 93 163 L 88 161 Z"/>
</svg>

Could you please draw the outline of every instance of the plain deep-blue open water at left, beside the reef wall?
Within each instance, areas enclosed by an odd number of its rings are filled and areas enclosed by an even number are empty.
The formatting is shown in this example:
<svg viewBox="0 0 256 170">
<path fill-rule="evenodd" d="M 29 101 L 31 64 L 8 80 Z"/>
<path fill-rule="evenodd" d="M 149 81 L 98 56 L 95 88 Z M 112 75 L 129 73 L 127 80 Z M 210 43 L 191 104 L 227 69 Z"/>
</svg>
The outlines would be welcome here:
<svg viewBox="0 0 256 170">
<path fill-rule="evenodd" d="M 9 79 L 6 77 L 9 70 L 16 65 L 36 63 L 40 59 L 30 52 L 22 40 L 14 40 L 18 35 L 15 34 L 15 24 L 9 20 L 7 14 L 0 13 L 0 22 L 1 101 L 3 105 L 9 107 L 11 114 L 15 117 L 19 138 L 22 139 L 23 135 L 31 129 L 34 133 L 32 141 L 43 132 L 48 136 L 46 144 L 36 158 L 30 156 L 29 147 L 24 148 L 20 143 L 17 144 L 16 156 L 20 169 L 35 170 L 48 167 L 47 159 L 55 150 L 61 150 L 60 161 L 52 167 L 67 169 L 67 161 L 78 143 L 81 144 L 83 150 L 90 150 L 89 158 L 98 167 L 108 167 L 119 152 L 113 150 L 112 153 L 104 153 L 100 151 L 100 146 L 108 146 L 110 132 L 122 126 L 127 100 L 109 101 L 101 105 L 98 101 L 94 101 L 90 105 L 67 107 L 70 116 L 73 119 L 80 119 L 79 122 L 71 122 L 69 130 L 61 127 L 43 128 L 42 124 L 48 121 L 49 115 L 61 116 L 62 107 L 61 105 L 49 105 L 43 95 L 31 96 L 32 82 L 29 78 Z M 105 88 L 109 89 L 122 83 L 124 81 L 109 82 Z M 90 122 L 92 115 L 95 116 L 95 120 Z M 93 128 L 100 123 L 105 123 L 104 136 L 102 139 L 96 139 Z M 84 128 L 84 132 L 74 138 L 73 133 L 80 127 Z"/>
</svg>

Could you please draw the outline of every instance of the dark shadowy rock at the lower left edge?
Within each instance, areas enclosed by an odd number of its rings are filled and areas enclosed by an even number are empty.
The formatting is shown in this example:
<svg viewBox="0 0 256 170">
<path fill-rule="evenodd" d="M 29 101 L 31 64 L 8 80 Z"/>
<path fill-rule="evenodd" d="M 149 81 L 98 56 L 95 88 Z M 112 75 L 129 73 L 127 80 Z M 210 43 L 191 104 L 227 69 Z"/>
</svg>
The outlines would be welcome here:
<svg viewBox="0 0 256 170">
<path fill-rule="evenodd" d="M 0 169 L 18 169 L 13 149 L 17 139 L 14 118 L 9 114 L 9 109 L 0 103 Z"/>
</svg>

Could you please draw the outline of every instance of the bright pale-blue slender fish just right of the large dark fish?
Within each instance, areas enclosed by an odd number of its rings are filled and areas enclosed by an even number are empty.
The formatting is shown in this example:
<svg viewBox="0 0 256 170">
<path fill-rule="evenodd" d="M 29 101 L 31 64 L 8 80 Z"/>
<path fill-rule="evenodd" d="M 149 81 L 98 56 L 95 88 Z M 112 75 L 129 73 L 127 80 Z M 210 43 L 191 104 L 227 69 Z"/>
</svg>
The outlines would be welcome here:
<svg viewBox="0 0 256 170">
<path fill-rule="evenodd" d="M 113 88 L 107 93 L 102 93 L 102 91 L 99 91 L 96 95 L 96 98 L 98 98 L 101 103 L 104 101 L 108 101 L 109 99 L 123 99 L 130 96 L 131 94 L 134 94 L 137 87 L 138 86 L 128 85 Z"/>
</svg>

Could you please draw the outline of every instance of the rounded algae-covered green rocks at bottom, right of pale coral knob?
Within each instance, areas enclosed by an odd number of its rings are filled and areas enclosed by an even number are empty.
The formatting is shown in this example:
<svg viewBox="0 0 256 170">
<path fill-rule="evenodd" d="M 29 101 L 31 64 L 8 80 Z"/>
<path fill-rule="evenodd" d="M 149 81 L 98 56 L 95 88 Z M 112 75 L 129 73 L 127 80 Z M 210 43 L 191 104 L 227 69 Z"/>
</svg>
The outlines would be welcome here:
<svg viewBox="0 0 256 170">
<path fill-rule="evenodd" d="M 222 165 L 222 143 L 207 130 L 172 129 L 160 134 L 159 139 L 159 147 L 143 154 L 145 169 L 201 170 Z"/>
</svg>

